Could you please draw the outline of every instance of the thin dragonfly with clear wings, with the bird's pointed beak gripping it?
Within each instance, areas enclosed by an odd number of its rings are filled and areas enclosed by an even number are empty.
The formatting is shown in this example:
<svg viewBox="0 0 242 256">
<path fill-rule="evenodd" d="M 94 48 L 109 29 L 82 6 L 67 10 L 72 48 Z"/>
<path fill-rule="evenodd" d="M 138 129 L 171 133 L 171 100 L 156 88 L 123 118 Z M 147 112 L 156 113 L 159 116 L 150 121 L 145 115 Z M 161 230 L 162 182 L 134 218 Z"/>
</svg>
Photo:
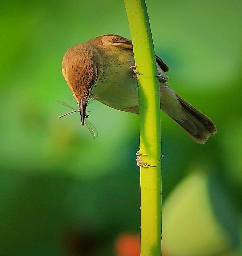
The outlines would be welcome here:
<svg viewBox="0 0 242 256">
<path fill-rule="evenodd" d="M 92 137 L 94 139 L 95 139 L 95 137 L 98 136 L 97 129 L 94 127 L 94 125 L 90 121 L 88 121 L 88 119 L 85 119 L 85 118 L 89 117 L 89 114 L 86 113 L 87 103 L 83 103 L 83 101 L 81 100 L 81 103 L 77 103 L 77 106 L 79 109 L 79 110 L 77 110 L 74 107 L 66 104 L 65 102 L 62 102 L 62 101 L 57 101 L 57 102 L 60 103 L 61 105 L 69 107 L 70 109 L 73 109 L 73 111 L 70 111 L 64 115 L 60 115 L 59 118 L 65 117 L 66 115 L 69 115 L 69 114 L 72 114 L 75 112 L 79 112 L 80 116 L 81 116 L 81 125 L 84 126 L 84 123 L 85 123 L 86 127 L 88 128 L 88 130 L 90 131 L 90 133 L 92 134 Z"/>
</svg>

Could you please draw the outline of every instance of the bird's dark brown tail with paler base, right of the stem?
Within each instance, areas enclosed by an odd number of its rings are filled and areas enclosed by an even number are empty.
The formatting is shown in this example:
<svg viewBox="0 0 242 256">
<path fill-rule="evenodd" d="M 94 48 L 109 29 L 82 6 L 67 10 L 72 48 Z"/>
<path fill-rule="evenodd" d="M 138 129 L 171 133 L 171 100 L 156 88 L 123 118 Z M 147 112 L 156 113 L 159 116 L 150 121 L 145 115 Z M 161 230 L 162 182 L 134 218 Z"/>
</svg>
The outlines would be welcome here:
<svg viewBox="0 0 242 256">
<path fill-rule="evenodd" d="M 191 106 L 168 84 L 160 84 L 161 109 L 169 115 L 196 142 L 204 144 L 210 135 L 217 133 L 213 121 Z"/>
</svg>

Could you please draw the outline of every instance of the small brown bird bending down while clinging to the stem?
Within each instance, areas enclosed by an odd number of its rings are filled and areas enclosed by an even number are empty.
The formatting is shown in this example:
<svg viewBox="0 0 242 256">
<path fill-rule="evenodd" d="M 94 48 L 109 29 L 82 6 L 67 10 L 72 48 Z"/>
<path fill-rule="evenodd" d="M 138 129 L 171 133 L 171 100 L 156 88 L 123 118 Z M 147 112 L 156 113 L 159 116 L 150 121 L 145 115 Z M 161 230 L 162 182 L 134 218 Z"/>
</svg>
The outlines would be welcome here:
<svg viewBox="0 0 242 256">
<path fill-rule="evenodd" d="M 213 121 L 191 106 L 166 82 L 169 70 L 156 55 L 160 106 L 196 142 L 217 133 Z M 84 125 L 90 97 L 114 109 L 138 114 L 138 86 L 132 41 L 104 35 L 69 48 L 62 59 L 62 74 L 72 90 Z"/>
</svg>

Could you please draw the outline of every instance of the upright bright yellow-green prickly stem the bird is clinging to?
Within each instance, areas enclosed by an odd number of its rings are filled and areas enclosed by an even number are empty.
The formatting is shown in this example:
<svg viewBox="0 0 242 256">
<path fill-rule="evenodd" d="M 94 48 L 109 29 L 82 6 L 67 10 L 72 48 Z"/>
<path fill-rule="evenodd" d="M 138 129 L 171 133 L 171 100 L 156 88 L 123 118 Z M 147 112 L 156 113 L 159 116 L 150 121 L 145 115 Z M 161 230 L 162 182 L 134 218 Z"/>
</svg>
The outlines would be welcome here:
<svg viewBox="0 0 242 256">
<path fill-rule="evenodd" d="M 145 0 L 124 0 L 133 41 L 140 112 L 141 256 L 161 255 L 161 122 L 160 91 Z"/>
</svg>

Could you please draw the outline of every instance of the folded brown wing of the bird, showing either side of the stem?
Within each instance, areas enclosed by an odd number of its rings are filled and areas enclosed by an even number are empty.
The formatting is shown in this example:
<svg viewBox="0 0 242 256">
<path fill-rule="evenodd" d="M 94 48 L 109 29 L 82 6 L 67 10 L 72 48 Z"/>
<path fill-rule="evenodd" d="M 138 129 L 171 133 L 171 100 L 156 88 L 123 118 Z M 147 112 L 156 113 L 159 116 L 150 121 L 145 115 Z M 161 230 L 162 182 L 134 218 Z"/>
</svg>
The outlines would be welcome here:
<svg viewBox="0 0 242 256">
<path fill-rule="evenodd" d="M 133 51 L 132 41 L 127 38 L 124 38 L 122 36 L 113 35 L 113 34 L 102 36 L 102 43 L 129 49 L 129 50 Z M 156 62 L 158 63 L 158 65 L 164 72 L 169 70 L 169 68 L 165 64 L 165 62 L 157 55 L 156 55 Z"/>
</svg>

